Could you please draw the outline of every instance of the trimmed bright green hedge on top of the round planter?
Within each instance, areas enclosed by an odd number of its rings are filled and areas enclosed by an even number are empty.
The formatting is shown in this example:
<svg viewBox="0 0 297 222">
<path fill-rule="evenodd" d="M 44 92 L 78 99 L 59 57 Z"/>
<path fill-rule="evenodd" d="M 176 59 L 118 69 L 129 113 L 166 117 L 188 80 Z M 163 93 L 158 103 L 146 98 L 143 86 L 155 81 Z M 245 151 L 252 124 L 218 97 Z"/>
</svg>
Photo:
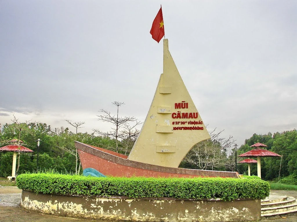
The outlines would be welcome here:
<svg viewBox="0 0 297 222">
<path fill-rule="evenodd" d="M 21 174 L 16 181 L 18 188 L 35 193 L 131 198 L 264 199 L 270 190 L 268 182 L 252 178 L 124 178 L 38 173 Z"/>
</svg>

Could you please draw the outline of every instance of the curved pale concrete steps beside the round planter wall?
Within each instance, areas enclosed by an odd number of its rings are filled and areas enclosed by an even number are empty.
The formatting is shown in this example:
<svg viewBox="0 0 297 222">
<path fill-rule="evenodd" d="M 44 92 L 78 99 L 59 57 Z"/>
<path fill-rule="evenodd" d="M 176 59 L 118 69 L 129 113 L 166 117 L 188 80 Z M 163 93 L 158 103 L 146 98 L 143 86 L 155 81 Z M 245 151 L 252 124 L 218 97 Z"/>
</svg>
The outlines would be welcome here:
<svg viewBox="0 0 297 222">
<path fill-rule="evenodd" d="M 270 193 L 269 197 L 261 200 L 261 217 L 272 217 L 297 212 L 297 202 L 294 197 Z"/>
</svg>

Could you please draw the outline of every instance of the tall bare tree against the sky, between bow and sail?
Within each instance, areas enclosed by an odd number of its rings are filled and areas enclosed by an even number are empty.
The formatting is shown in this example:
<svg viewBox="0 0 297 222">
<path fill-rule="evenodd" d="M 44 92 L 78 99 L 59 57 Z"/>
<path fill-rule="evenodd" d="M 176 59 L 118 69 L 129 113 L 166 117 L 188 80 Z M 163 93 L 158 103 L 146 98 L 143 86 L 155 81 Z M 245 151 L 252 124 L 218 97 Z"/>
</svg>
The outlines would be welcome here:
<svg viewBox="0 0 297 222">
<path fill-rule="evenodd" d="M 102 132 L 98 129 L 93 129 L 94 133 L 97 133 L 99 136 L 106 136 L 116 140 L 116 152 L 119 152 L 118 140 L 124 135 L 124 131 L 121 131 L 121 128 L 127 126 L 130 122 L 136 121 L 135 117 L 119 117 L 119 107 L 124 104 L 124 102 L 112 102 L 117 107 L 117 114 L 112 115 L 109 111 L 101 109 L 99 112 L 102 112 L 102 115 L 97 115 L 99 120 L 103 122 L 108 122 L 113 125 L 111 128 L 112 131 Z"/>
</svg>

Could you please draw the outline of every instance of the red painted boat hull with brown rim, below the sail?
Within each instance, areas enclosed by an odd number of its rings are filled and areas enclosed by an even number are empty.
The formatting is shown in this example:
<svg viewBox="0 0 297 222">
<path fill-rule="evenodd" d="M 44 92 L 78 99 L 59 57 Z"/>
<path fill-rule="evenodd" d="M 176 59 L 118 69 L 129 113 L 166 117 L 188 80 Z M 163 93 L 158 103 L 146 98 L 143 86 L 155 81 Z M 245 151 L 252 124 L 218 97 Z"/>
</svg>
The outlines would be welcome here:
<svg viewBox="0 0 297 222">
<path fill-rule="evenodd" d="M 125 155 L 80 142 L 75 142 L 75 147 L 83 169 L 94 168 L 105 176 L 239 178 L 237 172 L 172 168 L 131 161 Z"/>
</svg>

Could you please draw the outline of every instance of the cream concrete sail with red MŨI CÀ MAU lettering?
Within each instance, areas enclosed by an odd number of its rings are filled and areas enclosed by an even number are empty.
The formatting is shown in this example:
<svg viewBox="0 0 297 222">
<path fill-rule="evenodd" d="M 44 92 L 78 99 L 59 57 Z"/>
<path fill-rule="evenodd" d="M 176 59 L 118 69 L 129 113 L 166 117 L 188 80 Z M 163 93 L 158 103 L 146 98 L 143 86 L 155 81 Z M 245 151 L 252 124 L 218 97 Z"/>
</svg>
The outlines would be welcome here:
<svg viewBox="0 0 297 222">
<path fill-rule="evenodd" d="M 163 41 L 163 74 L 146 120 L 128 157 L 142 163 L 178 167 L 209 133 Z"/>
</svg>

